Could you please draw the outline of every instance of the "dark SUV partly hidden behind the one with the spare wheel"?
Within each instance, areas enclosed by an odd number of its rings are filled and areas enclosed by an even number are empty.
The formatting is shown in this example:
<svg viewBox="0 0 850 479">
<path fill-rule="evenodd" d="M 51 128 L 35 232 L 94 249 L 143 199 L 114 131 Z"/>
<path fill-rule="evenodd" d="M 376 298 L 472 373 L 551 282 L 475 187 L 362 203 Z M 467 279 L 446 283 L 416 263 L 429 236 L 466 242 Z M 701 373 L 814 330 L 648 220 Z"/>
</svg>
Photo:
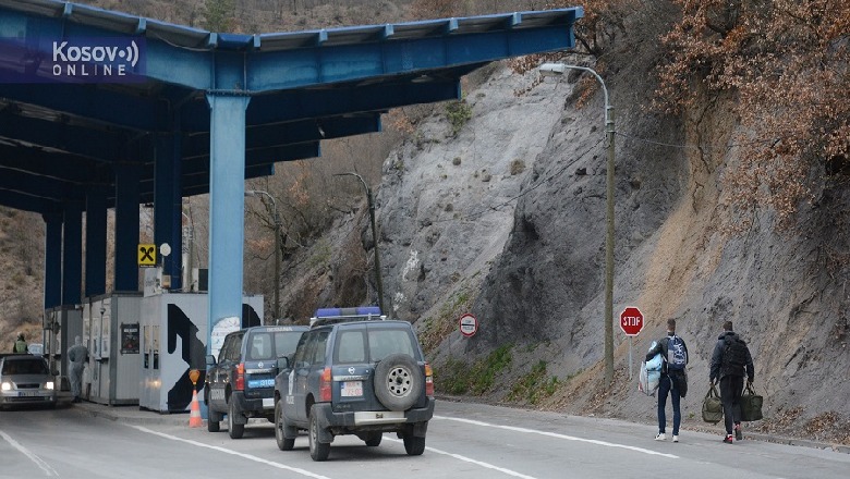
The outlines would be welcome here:
<svg viewBox="0 0 850 479">
<path fill-rule="evenodd" d="M 206 357 L 204 402 L 209 410 L 207 430 L 219 431 L 227 415 L 228 432 L 240 439 L 248 418 L 275 420 L 275 376 L 278 358 L 291 355 L 306 326 L 257 326 L 224 336 L 219 360 Z"/>
</svg>

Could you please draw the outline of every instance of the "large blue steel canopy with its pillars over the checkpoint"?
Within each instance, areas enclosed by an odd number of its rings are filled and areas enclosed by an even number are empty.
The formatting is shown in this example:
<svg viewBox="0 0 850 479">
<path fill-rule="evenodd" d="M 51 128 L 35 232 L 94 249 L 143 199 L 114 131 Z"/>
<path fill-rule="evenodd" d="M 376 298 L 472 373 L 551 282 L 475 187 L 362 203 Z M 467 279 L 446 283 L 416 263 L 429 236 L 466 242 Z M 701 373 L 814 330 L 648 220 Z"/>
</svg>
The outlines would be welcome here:
<svg viewBox="0 0 850 479">
<path fill-rule="evenodd" d="M 240 316 L 244 180 L 380 131 L 391 108 L 460 98 L 488 62 L 569 49 L 581 8 L 242 35 L 53 0 L 0 0 L 0 205 L 42 214 L 45 307 L 138 290 L 138 205 L 181 244 L 210 194 L 210 323 Z M 85 285 L 82 214 L 86 214 Z M 180 287 L 181 255 L 163 263 Z M 239 272 L 239 273 L 236 273 Z M 210 328 L 211 330 L 211 328 Z"/>
</svg>

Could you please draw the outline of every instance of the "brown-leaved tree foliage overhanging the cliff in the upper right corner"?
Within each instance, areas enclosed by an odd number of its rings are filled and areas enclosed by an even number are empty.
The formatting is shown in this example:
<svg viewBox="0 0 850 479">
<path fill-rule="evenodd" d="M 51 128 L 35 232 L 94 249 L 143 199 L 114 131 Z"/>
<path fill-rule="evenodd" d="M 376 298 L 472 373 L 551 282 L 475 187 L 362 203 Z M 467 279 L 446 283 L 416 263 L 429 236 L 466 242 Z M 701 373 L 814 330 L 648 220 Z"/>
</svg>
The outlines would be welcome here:
<svg viewBox="0 0 850 479">
<path fill-rule="evenodd" d="M 790 226 L 813 197 L 827 162 L 848 161 L 850 88 L 845 0 L 675 0 L 682 19 L 663 41 L 657 106 L 699 109 L 720 91 L 738 95 L 745 133 L 741 162 L 726 175 L 736 192 L 733 230 L 760 207 Z M 828 173 L 828 171 L 827 171 Z"/>
</svg>

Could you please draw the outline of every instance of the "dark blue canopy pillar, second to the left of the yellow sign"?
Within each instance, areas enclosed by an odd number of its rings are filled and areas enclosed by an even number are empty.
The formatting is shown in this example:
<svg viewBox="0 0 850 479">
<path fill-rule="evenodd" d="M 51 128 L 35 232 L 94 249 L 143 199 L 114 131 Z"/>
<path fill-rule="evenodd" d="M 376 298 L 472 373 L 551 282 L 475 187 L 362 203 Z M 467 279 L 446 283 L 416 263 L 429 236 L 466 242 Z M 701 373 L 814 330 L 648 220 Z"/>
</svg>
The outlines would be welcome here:
<svg viewBox="0 0 850 479">
<path fill-rule="evenodd" d="M 86 194 L 86 284 L 85 297 L 106 293 L 106 192 Z"/>
</svg>

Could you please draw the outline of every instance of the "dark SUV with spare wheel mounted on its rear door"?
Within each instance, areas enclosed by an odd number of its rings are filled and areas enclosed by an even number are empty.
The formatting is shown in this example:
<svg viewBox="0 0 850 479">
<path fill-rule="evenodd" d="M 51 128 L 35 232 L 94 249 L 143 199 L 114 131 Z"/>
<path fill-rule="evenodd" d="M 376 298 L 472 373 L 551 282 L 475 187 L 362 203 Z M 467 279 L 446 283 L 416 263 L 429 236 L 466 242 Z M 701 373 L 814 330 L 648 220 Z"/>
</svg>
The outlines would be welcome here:
<svg viewBox="0 0 850 479">
<path fill-rule="evenodd" d="M 356 434 L 366 445 L 396 432 L 409 455 L 425 451 L 434 416 L 434 382 L 409 322 L 384 320 L 377 308 L 319 310 L 295 355 L 279 360 L 275 438 L 292 450 L 308 431 L 309 455 L 325 460 L 330 443 Z"/>
</svg>

